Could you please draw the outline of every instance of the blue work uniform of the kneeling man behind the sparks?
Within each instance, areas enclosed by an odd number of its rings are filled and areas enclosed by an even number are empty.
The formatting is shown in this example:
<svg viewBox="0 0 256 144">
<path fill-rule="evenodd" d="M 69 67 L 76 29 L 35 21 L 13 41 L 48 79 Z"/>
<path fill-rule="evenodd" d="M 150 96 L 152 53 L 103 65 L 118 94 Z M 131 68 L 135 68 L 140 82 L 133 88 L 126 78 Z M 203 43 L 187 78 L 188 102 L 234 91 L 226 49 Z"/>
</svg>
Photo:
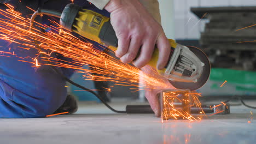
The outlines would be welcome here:
<svg viewBox="0 0 256 144">
<path fill-rule="evenodd" d="M 1 0 L 0 0 L 1 2 Z M 43 8 L 62 11 L 66 4 L 71 1 L 66 0 L 49 0 L 39 3 L 38 1 L 20 1 L 10 0 L 8 3 L 15 6 L 24 16 L 31 15 L 33 11 L 28 10 L 26 6 L 37 9 L 38 5 Z M 79 4 L 86 9 L 92 9 L 105 16 L 109 16 L 106 10 L 97 9 L 94 5 L 85 0 L 75 0 L 74 3 Z M 6 9 L 4 5 L 0 5 L 1 9 Z M 5 19 L 0 15 L 1 19 Z M 43 16 L 42 23 L 48 25 L 49 17 Z M 0 32 L 1 33 L 1 32 Z M 20 43 L 23 43 L 20 41 Z M 98 45 L 91 41 L 92 44 Z M 38 50 L 21 50 L 19 44 L 9 43 L 0 40 L 0 51 L 14 51 L 19 57 L 36 57 Z M 0 55 L 4 55 L 0 52 Z M 65 101 L 67 89 L 66 81 L 58 75 L 49 65 L 41 65 L 38 68 L 32 67 L 33 64 L 18 61 L 16 56 L 4 57 L 0 56 L 0 117 L 1 118 L 33 118 L 45 117 L 56 111 Z M 53 55 L 53 57 L 69 61 L 61 55 Z M 33 60 L 31 59 L 31 62 Z M 38 59 L 40 61 L 40 59 Z M 40 63 L 44 63 L 40 61 Z M 57 68 L 66 75 L 71 77 L 72 69 Z"/>
</svg>

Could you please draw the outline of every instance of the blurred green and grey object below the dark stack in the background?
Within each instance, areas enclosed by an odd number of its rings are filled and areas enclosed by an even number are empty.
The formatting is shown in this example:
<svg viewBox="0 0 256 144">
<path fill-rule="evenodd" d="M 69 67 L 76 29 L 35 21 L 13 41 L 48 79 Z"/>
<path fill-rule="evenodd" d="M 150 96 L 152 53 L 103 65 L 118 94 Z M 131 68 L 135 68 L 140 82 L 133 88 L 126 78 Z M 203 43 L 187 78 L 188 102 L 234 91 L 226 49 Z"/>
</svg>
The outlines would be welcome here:
<svg viewBox="0 0 256 144">
<path fill-rule="evenodd" d="M 225 81 L 223 87 L 220 87 Z M 210 79 L 197 92 L 204 96 L 256 95 L 256 72 L 212 68 Z"/>
</svg>

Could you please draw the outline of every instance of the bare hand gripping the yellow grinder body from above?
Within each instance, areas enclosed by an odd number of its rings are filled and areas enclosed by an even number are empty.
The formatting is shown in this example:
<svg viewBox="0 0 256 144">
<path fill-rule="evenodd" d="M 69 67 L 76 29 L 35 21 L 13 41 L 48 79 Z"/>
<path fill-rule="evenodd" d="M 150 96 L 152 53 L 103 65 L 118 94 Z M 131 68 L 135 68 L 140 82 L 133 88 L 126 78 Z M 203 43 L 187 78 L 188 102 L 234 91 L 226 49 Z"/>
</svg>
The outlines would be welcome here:
<svg viewBox="0 0 256 144">
<path fill-rule="evenodd" d="M 118 38 L 115 55 L 124 63 L 142 68 L 153 54 L 155 44 L 159 49 L 158 69 L 163 69 L 170 55 L 170 43 L 158 22 L 139 0 L 110 0 L 105 9 Z M 138 52 L 140 51 L 139 56 Z"/>
</svg>

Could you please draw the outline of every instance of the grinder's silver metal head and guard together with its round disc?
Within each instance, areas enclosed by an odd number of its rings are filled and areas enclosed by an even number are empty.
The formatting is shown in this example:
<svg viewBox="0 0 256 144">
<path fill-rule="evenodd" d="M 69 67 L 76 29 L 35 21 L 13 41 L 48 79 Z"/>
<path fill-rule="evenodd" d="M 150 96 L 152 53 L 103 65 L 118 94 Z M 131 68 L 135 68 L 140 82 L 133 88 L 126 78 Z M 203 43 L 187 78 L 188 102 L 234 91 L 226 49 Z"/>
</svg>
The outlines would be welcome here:
<svg viewBox="0 0 256 144">
<path fill-rule="evenodd" d="M 177 45 L 179 46 L 179 45 Z M 182 46 L 182 45 L 181 45 Z M 184 52 L 181 52 L 181 54 L 179 55 L 179 58 L 177 59 L 177 62 L 174 63 L 174 67 L 173 69 L 171 69 L 171 73 L 170 76 L 168 77 L 169 82 L 178 89 L 190 89 L 190 91 L 194 91 L 196 89 L 201 88 L 206 81 L 208 80 L 209 76 L 210 76 L 210 70 L 211 70 L 211 65 L 210 65 L 210 61 L 208 59 L 208 57 L 206 56 L 206 54 L 204 52 L 202 52 L 200 49 L 196 48 L 196 47 L 185 47 L 182 46 L 182 50 L 184 50 Z M 177 48 L 176 48 L 177 49 Z M 188 50 L 189 49 L 189 50 Z M 181 51 L 182 51 L 181 50 Z M 183 59 L 188 60 L 187 58 L 190 58 L 189 61 L 185 61 L 186 64 L 184 64 Z M 185 58 L 187 57 L 187 58 Z M 191 63 L 191 65 L 189 64 Z M 189 70 L 194 69 L 193 73 L 191 73 L 191 77 L 190 76 L 186 76 L 188 75 L 188 73 L 178 73 L 176 71 L 176 69 L 179 69 L 179 64 L 185 65 Z M 184 69 L 183 69 L 184 71 Z M 190 74 L 190 73 L 189 73 Z M 182 80 L 182 81 L 181 81 Z"/>
</svg>

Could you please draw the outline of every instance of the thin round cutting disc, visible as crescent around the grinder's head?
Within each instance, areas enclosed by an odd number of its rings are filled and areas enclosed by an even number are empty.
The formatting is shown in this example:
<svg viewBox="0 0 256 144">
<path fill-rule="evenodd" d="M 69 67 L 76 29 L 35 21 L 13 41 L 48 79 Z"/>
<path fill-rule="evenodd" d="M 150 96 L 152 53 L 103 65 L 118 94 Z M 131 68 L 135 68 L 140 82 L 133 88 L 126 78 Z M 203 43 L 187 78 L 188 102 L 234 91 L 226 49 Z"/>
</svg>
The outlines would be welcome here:
<svg viewBox="0 0 256 144">
<path fill-rule="evenodd" d="M 169 81 L 172 84 L 172 86 L 174 86 L 177 89 L 189 89 L 190 91 L 195 91 L 196 89 L 199 89 L 203 85 L 205 85 L 206 81 L 209 79 L 211 73 L 211 64 L 208 57 L 202 50 L 192 46 L 187 47 L 189 47 L 189 50 L 193 52 L 202 63 L 205 64 L 203 66 L 202 75 L 199 77 L 199 79 L 197 79 L 197 82 L 178 82 L 170 80 Z"/>
</svg>

